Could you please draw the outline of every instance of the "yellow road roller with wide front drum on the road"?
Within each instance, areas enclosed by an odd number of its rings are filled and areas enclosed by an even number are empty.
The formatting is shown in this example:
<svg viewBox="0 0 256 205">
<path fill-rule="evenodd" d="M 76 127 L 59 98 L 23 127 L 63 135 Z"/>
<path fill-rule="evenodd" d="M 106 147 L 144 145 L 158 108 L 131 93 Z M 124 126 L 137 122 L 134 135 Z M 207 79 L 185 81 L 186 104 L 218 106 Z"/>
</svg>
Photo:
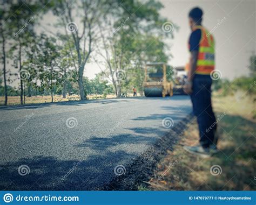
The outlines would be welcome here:
<svg viewBox="0 0 256 205">
<path fill-rule="evenodd" d="M 170 70 L 166 73 L 166 64 L 164 62 L 147 63 L 143 82 L 144 95 L 146 97 L 172 96 L 173 83 L 169 80 L 170 75 Z"/>
</svg>

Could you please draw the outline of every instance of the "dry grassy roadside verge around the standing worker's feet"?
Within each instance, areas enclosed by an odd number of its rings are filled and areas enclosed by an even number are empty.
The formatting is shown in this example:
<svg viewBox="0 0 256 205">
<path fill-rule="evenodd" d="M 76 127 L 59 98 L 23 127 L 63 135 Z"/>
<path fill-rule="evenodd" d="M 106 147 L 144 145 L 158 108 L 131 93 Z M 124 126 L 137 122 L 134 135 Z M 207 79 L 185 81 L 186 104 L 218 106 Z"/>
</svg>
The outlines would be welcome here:
<svg viewBox="0 0 256 205">
<path fill-rule="evenodd" d="M 255 190 L 255 103 L 250 96 L 239 96 L 213 97 L 215 114 L 226 113 L 219 121 L 218 154 L 202 159 L 183 150 L 183 145 L 198 143 L 194 119 L 173 151 L 167 151 L 159 162 L 154 176 L 139 190 Z M 214 165 L 221 167 L 220 175 L 210 173 Z"/>
</svg>

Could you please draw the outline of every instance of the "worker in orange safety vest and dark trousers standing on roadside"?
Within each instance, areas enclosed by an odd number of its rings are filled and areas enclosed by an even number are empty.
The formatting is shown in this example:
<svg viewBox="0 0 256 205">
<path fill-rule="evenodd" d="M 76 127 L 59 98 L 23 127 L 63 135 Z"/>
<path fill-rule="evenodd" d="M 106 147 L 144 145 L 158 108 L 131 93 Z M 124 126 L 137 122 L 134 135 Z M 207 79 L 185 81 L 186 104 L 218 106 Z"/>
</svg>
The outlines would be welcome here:
<svg viewBox="0 0 256 205">
<path fill-rule="evenodd" d="M 211 103 L 214 39 L 212 34 L 201 25 L 202 16 L 203 11 L 200 8 L 193 8 L 188 15 L 192 33 L 188 43 L 190 62 L 184 86 L 184 91 L 191 96 L 193 113 L 197 117 L 200 143 L 197 146 L 184 146 L 184 149 L 207 157 L 217 152 L 215 138 L 217 122 Z"/>
</svg>

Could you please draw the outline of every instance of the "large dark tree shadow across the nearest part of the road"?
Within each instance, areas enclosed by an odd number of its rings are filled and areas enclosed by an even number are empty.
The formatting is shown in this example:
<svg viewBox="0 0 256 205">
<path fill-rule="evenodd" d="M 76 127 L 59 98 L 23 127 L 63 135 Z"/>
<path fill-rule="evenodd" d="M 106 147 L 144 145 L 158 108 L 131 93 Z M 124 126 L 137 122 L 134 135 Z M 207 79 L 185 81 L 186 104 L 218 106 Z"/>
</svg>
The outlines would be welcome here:
<svg viewBox="0 0 256 205">
<path fill-rule="evenodd" d="M 0 190 L 101 190 L 117 177 L 114 167 L 120 165 L 119 158 L 128 155 L 135 157 L 125 151 L 107 151 L 77 160 L 22 158 L 1 165 Z M 19 167 L 23 168 L 18 171 Z"/>
</svg>

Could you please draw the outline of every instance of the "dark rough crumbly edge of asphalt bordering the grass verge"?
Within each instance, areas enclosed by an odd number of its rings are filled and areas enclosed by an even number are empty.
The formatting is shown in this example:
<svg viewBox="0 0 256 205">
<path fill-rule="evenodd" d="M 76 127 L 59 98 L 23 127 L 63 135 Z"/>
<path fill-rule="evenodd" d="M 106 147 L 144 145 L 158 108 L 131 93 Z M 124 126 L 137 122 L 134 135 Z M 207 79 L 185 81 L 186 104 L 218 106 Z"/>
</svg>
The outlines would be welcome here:
<svg viewBox="0 0 256 205">
<path fill-rule="evenodd" d="M 98 190 L 138 190 L 143 181 L 149 181 L 156 170 L 157 163 L 163 159 L 167 150 L 173 150 L 173 145 L 183 136 L 189 122 L 193 119 L 192 114 L 178 121 L 163 137 L 157 140 L 147 151 L 140 154 L 129 165 L 125 166 L 123 175 L 115 175 L 112 181 Z"/>
</svg>

